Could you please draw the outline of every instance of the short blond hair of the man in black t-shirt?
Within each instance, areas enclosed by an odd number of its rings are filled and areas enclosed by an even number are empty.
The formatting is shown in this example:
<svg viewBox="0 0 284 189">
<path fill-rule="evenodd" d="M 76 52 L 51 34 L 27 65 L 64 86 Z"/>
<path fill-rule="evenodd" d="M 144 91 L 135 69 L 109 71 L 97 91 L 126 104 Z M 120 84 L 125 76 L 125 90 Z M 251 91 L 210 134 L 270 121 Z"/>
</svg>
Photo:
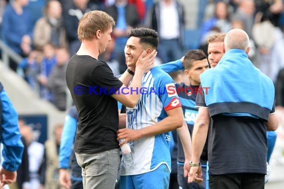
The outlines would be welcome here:
<svg viewBox="0 0 284 189">
<path fill-rule="evenodd" d="M 106 12 L 100 10 L 87 12 L 79 21 L 78 38 L 81 42 L 83 40 L 92 40 L 98 30 L 105 33 L 114 26 L 114 18 Z"/>
</svg>

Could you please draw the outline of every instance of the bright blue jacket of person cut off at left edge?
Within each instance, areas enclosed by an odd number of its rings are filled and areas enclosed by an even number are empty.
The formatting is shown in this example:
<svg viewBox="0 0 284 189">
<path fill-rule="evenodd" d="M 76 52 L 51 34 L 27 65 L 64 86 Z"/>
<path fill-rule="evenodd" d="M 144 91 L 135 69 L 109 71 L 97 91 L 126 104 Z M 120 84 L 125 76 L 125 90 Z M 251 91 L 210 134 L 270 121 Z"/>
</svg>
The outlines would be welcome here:
<svg viewBox="0 0 284 189">
<path fill-rule="evenodd" d="M 23 144 L 18 127 L 18 115 L 0 83 L 0 127 L 3 144 L 2 167 L 8 171 L 16 171 L 21 164 Z"/>
</svg>

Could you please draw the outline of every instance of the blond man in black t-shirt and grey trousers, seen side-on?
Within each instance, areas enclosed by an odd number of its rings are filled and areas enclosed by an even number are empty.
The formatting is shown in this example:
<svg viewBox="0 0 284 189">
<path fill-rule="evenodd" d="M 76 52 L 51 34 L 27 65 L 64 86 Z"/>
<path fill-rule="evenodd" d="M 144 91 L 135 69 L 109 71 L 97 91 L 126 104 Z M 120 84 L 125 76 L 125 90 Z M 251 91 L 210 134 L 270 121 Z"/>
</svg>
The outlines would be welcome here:
<svg viewBox="0 0 284 189">
<path fill-rule="evenodd" d="M 156 52 L 143 52 L 135 70 L 117 79 L 110 67 L 98 60 L 112 40 L 114 19 L 103 11 L 90 11 L 81 18 L 78 37 L 81 47 L 70 59 L 66 82 L 79 112 L 74 150 L 82 168 L 84 189 L 112 189 L 119 168 L 119 125 L 117 100 L 135 107 L 142 76 L 152 68 Z M 130 81 L 132 83 L 129 85 Z M 123 88 L 123 93 L 119 90 Z"/>
</svg>

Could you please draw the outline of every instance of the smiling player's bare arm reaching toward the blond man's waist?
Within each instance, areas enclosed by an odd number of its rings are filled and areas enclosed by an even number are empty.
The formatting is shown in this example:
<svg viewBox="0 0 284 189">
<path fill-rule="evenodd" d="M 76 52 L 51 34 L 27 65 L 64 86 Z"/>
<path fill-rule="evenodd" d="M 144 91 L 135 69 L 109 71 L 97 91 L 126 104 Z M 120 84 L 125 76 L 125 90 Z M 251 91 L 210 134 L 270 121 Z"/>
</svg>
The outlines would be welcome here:
<svg viewBox="0 0 284 189">
<path fill-rule="evenodd" d="M 178 99 L 178 98 L 175 98 Z M 179 100 L 179 99 L 178 99 Z M 180 103 L 180 102 L 179 102 Z M 139 130 L 133 129 L 120 129 L 118 131 L 118 140 L 124 138 L 124 142 L 120 143 L 123 145 L 127 141 L 138 140 L 142 137 L 154 136 L 162 134 L 173 129 L 179 128 L 183 124 L 183 114 L 181 107 L 175 107 L 166 111 L 167 117 L 157 122 L 154 125 L 144 127 Z"/>
</svg>

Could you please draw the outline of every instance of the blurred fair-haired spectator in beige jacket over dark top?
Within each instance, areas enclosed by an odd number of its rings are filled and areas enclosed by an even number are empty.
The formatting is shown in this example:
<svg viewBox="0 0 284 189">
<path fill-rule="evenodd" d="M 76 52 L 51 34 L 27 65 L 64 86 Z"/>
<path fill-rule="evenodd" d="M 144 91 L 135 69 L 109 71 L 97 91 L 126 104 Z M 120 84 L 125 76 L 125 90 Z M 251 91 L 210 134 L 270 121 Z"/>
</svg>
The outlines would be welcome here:
<svg viewBox="0 0 284 189">
<path fill-rule="evenodd" d="M 48 1 L 45 15 L 36 21 L 33 43 L 36 49 L 42 49 L 47 43 L 54 47 L 67 47 L 62 7 L 57 0 Z"/>
</svg>

